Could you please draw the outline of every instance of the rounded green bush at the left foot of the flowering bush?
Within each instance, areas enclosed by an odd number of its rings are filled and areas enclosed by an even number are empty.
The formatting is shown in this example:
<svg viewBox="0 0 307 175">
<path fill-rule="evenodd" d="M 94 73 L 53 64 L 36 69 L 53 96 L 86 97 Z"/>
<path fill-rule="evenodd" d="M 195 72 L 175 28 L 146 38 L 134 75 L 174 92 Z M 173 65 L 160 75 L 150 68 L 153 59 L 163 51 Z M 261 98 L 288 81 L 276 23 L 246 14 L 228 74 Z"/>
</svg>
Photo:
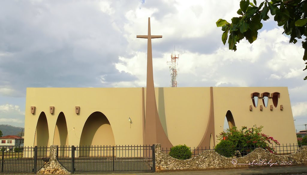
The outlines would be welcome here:
<svg viewBox="0 0 307 175">
<path fill-rule="evenodd" d="M 235 145 L 228 140 L 221 140 L 220 143 L 216 144 L 214 150 L 225 157 L 233 157 L 236 154 Z"/>
</svg>

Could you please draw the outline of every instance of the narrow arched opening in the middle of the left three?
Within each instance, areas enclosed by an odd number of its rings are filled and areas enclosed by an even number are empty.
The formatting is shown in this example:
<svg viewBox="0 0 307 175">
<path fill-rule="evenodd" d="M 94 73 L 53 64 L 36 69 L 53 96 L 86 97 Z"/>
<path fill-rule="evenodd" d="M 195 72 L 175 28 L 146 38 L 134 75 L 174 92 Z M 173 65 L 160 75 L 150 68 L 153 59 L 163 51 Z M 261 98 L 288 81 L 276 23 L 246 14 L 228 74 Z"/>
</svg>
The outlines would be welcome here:
<svg viewBox="0 0 307 175">
<path fill-rule="evenodd" d="M 67 124 L 65 115 L 63 112 L 60 112 L 57 120 L 56 120 L 56 127 L 54 129 L 54 136 L 53 136 L 53 145 L 59 146 L 59 154 L 64 154 L 64 148 L 61 149 L 60 147 L 64 147 L 68 145 L 68 131 L 67 131 Z"/>
</svg>

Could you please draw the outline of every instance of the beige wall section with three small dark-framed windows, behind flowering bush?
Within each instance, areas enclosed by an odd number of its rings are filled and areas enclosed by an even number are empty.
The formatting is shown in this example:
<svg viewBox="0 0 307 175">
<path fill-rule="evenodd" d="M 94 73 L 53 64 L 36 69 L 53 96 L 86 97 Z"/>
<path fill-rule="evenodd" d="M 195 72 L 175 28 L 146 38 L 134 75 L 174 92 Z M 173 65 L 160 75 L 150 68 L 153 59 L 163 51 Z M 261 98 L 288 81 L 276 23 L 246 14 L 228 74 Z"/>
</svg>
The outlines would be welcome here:
<svg viewBox="0 0 307 175">
<path fill-rule="evenodd" d="M 269 98 L 267 107 L 264 107 L 259 98 L 255 108 L 251 99 L 251 93 L 279 92 L 278 106 L 274 107 L 272 98 Z M 253 125 L 264 126 L 262 133 L 278 140 L 281 144 L 296 144 L 296 134 L 291 110 L 289 92 L 287 87 L 213 87 L 215 133 L 223 131 L 224 119 L 228 110 L 231 111 L 235 126 L 252 127 Z M 253 110 L 249 110 L 249 106 Z M 260 105 L 263 110 L 260 111 Z M 273 111 L 270 110 L 273 105 Z M 280 105 L 284 109 L 280 110 Z"/>
</svg>

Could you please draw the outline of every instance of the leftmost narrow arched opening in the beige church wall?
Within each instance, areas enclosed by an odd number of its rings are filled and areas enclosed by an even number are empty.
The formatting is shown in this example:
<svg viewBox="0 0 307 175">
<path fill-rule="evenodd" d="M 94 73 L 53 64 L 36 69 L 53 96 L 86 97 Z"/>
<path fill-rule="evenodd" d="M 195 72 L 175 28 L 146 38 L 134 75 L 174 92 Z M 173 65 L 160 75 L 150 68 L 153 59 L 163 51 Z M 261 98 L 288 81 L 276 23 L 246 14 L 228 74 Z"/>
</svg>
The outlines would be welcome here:
<svg viewBox="0 0 307 175">
<path fill-rule="evenodd" d="M 37 155 L 47 156 L 46 150 L 49 147 L 49 130 L 45 112 L 41 112 L 37 120 L 34 146 L 37 146 Z"/>
</svg>

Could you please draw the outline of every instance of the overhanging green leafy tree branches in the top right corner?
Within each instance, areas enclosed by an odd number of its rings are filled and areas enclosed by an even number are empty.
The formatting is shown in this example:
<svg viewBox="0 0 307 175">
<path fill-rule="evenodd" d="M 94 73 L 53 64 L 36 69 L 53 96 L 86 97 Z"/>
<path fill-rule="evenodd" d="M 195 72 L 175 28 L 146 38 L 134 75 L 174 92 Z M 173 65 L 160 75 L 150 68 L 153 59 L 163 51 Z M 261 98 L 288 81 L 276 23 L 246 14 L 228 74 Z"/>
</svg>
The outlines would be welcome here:
<svg viewBox="0 0 307 175">
<path fill-rule="evenodd" d="M 222 27 L 222 41 L 226 44 L 228 38 L 228 47 L 236 51 L 236 43 L 239 43 L 244 37 L 253 43 L 258 36 L 258 30 L 262 28 L 261 21 L 268 20 L 268 13 L 274 16 L 274 21 L 278 26 L 283 26 L 286 35 L 290 35 L 290 43 L 296 43 L 297 39 L 305 37 L 302 41 L 302 47 L 305 49 L 303 60 L 307 60 L 307 2 L 306 0 L 265 0 L 257 6 L 249 0 L 240 1 L 240 9 L 237 14 L 240 17 L 231 18 L 231 23 L 219 19 L 216 22 L 217 27 Z M 229 33 L 229 37 L 228 37 Z M 305 63 L 307 64 L 307 62 Z M 306 68 L 304 70 L 307 69 Z M 304 78 L 307 80 L 307 76 Z"/>
</svg>

